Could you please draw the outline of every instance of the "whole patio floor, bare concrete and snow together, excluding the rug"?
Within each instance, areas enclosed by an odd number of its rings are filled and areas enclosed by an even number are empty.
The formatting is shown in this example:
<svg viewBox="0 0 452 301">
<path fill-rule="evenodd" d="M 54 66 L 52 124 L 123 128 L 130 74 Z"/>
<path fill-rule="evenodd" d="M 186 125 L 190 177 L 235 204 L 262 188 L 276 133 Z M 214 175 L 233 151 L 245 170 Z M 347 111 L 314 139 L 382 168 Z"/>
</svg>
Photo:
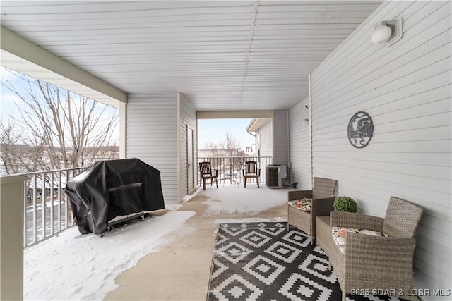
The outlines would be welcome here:
<svg viewBox="0 0 452 301">
<path fill-rule="evenodd" d="M 198 187 L 108 233 L 66 230 L 25 250 L 24 300 L 204 300 L 218 224 L 286 221 L 287 190 Z"/>
</svg>

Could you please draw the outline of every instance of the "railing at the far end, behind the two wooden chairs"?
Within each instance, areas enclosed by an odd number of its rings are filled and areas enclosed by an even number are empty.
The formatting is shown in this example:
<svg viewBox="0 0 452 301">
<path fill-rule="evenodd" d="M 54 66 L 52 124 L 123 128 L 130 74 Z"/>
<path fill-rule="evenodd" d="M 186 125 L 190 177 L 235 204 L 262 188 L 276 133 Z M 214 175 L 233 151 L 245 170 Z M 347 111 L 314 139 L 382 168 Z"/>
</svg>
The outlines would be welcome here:
<svg viewBox="0 0 452 301">
<path fill-rule="evenodd" d="M 259 183 L 266 183 L 266 166 L 272 164 L 271 156 L 222 156 L 222 157 L 198 157 L 198 162 L 210 162 L 212 169 L 218 169 L 218 181 L 230 183 L 243 183 L 242 170 L 245 161 L 256 161 L 261 169 Z M 199 164 L 198 164 L 199 166 Z M 256 180 L 252 179 L 256 182 Z"/>
</svg>

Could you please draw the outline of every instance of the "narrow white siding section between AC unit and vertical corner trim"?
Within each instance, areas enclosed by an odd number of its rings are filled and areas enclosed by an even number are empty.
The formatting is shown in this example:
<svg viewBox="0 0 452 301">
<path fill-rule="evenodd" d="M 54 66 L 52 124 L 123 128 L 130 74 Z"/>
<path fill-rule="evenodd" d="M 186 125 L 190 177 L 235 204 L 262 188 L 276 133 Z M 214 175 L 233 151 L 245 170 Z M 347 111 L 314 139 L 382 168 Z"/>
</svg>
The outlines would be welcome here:
<svg viewBox="0 0 452 301">
<path fill-rule="evenodd" d="M 309 124 L 303 125 L 309 118 L 308 99 L 289 111 L 289 149 L 292 163 L 292 183 L 298 182 L 297 189 L 311 189 L 311 158 L 309 157 Z"/>
</svg>

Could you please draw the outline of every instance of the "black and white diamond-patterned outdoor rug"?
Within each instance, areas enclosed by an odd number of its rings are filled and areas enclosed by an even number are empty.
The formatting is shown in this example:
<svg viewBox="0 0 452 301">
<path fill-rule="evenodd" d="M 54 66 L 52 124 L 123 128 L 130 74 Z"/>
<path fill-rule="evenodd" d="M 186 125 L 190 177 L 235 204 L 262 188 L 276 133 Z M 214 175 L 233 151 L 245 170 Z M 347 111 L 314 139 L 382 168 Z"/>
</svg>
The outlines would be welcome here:
<svg viewBox="0 0 452 301">
<path fill-rule="evenodd" d="M 220 223 L 207 300 L 340 300 L 325 252 L 286 222 Z M 351 296 L 347 300 L 398 300 Z"/>
</svg>

